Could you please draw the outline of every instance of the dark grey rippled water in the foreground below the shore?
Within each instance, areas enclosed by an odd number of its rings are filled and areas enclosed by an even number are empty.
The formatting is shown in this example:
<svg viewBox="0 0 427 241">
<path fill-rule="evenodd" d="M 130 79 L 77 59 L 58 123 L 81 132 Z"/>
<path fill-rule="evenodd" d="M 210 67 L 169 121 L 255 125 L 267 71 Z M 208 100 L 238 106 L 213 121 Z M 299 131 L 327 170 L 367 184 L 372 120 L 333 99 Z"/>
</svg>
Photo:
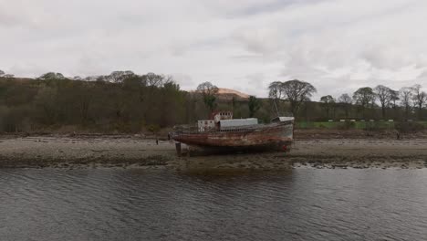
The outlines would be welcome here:
<svg viewBox="0 0 427 241">
<path fill-rule="evenodd" d="M 427 240 L 427 170 L 0 170 L 1 240 Z"/>
</svg>

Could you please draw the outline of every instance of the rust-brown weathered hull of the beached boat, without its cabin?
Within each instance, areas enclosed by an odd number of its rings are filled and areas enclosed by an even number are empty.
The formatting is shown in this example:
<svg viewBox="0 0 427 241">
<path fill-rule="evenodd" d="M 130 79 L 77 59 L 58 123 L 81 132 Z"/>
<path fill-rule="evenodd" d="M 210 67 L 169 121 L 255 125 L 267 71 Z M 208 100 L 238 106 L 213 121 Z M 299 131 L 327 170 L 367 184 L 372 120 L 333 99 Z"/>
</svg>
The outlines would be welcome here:
<svg viewBox="0 0 427 241">
<path fill-rule="evenodd" d="M 226 131 L 175 132 L 172 139 L 205 150 L 287 150 L 293 121 Z"/>
</svg>

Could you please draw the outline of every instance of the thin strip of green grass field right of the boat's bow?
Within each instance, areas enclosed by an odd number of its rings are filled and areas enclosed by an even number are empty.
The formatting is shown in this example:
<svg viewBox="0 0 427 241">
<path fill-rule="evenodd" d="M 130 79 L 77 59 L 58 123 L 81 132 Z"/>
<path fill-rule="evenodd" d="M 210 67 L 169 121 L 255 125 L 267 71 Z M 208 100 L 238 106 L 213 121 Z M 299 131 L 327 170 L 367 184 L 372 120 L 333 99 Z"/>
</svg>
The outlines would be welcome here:
<svg viewBox="0 0 427 241">
<path fill-rule="evenodd" d="M 405 122 L 416 125 L 422 125 L 427 128 L 427 121 Z M 297 129 L 395 129 L 400 122 L 394 121 L 297 121 Z"/>
</svg>

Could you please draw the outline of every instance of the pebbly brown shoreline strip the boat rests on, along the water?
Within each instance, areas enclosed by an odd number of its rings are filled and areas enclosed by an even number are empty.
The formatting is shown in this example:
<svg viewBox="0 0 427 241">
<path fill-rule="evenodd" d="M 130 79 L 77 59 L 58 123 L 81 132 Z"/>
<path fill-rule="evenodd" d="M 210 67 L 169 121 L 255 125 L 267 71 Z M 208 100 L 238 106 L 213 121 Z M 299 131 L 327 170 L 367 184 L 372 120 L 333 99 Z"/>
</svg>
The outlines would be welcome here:
<svg viewBox="0 0 427 241">
<path fill-rule="evenodd" d="M 427 139 L 315 139 L 291 152 L 177 157 L 172 141 L 139 136 L 1 136 L 0 167 L 139 167 L 173 170 L 426 168 Z"/>
</svg>

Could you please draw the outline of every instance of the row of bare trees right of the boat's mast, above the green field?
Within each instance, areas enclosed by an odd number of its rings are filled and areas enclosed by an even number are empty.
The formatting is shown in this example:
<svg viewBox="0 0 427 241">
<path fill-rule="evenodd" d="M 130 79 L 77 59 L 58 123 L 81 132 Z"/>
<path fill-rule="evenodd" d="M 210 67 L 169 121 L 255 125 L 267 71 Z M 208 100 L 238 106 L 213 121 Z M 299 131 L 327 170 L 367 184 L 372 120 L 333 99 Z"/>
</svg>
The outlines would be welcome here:
<svg viewBox="0 0 427 241">
<path fill-rule="evenodd" d="M 398 121 L 425 119 L 427 93 L 422 86 L 416 84 L 399 90 L 384 85 L 374 88 L 362 87 L 354 93 L 343 93 L 338 99 L 331 95 L 322 96 L 319 100 L 319 112 L 316 104 L 310 103 L 310 98 L 317 89 L 306 81 L 298 79 L 285 82 L 270 83 L 269 98 L 278 104 L 288 103 L 286 110 L 294 116 L 307 119 L 307 111 L 315 112 L 309 115 L 311 119 L 395 119 Z M 378 113 L 380 110 L 380 114 Z M 304 112 L 306 114 L 304 115 Z"/>
</svg>

